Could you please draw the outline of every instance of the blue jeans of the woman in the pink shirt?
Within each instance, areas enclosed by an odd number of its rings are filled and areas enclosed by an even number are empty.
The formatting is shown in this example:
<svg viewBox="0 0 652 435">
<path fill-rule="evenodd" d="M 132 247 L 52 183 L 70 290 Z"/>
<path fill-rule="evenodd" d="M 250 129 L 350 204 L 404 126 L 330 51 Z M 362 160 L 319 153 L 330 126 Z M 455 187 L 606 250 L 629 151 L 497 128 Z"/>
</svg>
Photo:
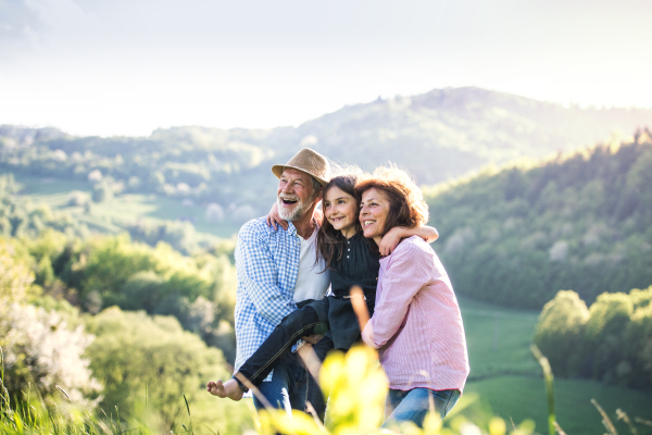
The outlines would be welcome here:
<svg viewBox="0 0 652 435">
<path fill-rule="evenodd" d="M 383 424 L 388 427 L 399 422 L 411 421 L 423 427 L 424 419 L 434 407 L 434 411 L 443 419 L 460 399 L 459 389 L 436 391 L 428 388 L 413 388 L 409 391 L 390 389 L 385 405 L 385 415 L 391 413 Z"/>
</svg>

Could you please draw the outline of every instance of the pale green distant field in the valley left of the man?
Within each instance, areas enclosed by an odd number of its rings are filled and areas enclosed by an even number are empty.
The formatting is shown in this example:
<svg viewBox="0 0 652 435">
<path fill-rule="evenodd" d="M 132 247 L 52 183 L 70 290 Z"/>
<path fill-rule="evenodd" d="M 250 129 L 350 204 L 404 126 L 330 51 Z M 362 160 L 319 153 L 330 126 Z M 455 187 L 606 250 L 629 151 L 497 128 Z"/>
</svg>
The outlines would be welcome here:
<svg viewBox="0 0 652 435">
<path fill-rule="evenodd" d="M 15 175 L 15 174 L 14 174 Z M 70 194 L 74 190 L 90 196 L 88 183 L 68 182 L 54 178 L 15 175 L 18 183 L 25 186 L 22 197 L 34 202 L 45 202 L 53 209 L 67 210 L 91 228 L 102 232 L 115 232 L 126 224 L 149 219 L 154 221 L 190 221 L 198 232 L 220 237 L 230 237 L 237 233 L 240 224 L 228 219 L 213 223 L 206 221 L 204 207 L 201 204 L 183 206 L 181 199 L 173 199 L 156 195 L 122 195 L 102 203 L 93 203 L 90 214 L 85 214 L 82 207 L 67 207 Z"/>
</svg>

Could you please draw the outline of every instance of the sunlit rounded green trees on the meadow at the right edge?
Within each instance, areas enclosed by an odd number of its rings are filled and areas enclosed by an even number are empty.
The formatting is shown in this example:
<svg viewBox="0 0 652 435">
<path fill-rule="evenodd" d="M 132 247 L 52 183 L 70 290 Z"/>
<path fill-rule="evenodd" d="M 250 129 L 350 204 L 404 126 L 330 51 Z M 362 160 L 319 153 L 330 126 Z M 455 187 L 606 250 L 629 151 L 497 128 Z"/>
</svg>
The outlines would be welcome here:
<svg viewBox="0 0 652 435">
<path fill-rule="evenodd" d="M 555 375 L 652 393 L 652 286 L 603 293 L 589 308 L 577 293 L 559 291 L 543 307 L 535 343 Z"/>
</svg>

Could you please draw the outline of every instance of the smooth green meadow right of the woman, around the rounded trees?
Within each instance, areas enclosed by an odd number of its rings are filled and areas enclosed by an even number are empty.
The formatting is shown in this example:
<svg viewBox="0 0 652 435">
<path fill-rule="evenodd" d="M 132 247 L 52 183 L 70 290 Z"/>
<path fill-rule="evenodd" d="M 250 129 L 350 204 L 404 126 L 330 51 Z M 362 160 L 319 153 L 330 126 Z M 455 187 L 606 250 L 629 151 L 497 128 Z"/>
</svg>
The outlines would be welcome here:
<svg viewBox="0 0 652 435">
<path fill-rule="evenodd" d="M 516 424 L 530 419 L 538 433 L 547 433 L 546 387 L 541 368 L 529 350 L 538 313 L 466 298 L 460 298 L 460 306 L 471 360 L 465 396 L 477 394 L 485 408 L 503 419 L 512 418 Z M 557 422 L 567 435 L 605 433 L 592 398 L 613 419 L 620 435 L 630 431 L 625 423 L 616 423 L 618 408 L 632 419 L 652 421 L 652 395 L 591 381 L 555 378 L 554 385 Z M 472 407 L 462 413 L 474 412 L 478 410 Z M 640 435 L 652 434 L 652 427 L 638 425 L 638 430 Z"/>
</svg>

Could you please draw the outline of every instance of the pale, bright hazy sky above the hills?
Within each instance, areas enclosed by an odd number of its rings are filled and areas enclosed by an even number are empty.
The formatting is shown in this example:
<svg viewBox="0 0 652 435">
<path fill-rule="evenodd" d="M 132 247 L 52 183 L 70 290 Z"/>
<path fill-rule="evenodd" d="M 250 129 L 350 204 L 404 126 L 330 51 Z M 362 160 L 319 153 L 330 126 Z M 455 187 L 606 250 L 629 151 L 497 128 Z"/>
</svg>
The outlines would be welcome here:
<svg viewBox="0 0 652 435">
<path fill-rule="evenodd" d="M 0 0 L 0 124 L 299 125 L 479 86 L 652 107 L 649 0 Z"/>
</svg>

